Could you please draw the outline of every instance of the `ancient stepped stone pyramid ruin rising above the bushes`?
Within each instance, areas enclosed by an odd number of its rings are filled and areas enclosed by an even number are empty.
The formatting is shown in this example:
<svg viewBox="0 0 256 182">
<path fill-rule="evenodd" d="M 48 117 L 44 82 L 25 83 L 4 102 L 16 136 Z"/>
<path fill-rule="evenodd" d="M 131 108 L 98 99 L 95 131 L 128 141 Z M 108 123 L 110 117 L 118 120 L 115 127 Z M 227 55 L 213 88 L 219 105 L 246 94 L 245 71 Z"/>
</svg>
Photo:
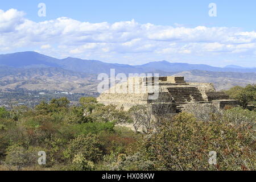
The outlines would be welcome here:
<svg viewBox="0 0 256 182">
<path fill-rule="evenodd" d="M 216 92 L 213 84 L 185 82 L 184 77 L 130 77 L 127 82 L 116 84 L 97 98 L 105 105 L 117 105 L 129 110 L 135 105 L 148 105 L 154 114 L 180 113 L 184 107 L 210 105 L 217 110 L 237 106 L 224 92 Z M 193 109 L 193 108 L 191 108 Z"/>
</svg>

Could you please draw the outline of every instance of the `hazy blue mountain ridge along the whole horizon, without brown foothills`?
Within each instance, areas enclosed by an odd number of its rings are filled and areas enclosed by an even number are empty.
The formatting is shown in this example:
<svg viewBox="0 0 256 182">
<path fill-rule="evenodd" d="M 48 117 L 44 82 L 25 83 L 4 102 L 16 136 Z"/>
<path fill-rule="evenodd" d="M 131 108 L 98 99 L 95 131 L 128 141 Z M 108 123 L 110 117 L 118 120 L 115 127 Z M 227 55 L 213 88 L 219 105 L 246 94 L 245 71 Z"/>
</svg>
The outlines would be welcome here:
<svg viewBox="0 0 256 182">
<path fill-rule="evenodd" d="M 73 57 L 56 59 L 36 52 L 18 52 L 0 55 L 0 65 L 12 68 L 63 68 L 69 71 L 90 74 L 110 73 L 146 73 L 146 72 L 182 72 L 191 70 L 213 72 L 256 72 L 256 68 L 242 68 L 230 65 L 225 68 L 211 67 L 205 64 L 170 63 L 168 61 L 151 62 L 143 65 L 110 64 L 97 60 L 82 60 Z"/>
</svg>

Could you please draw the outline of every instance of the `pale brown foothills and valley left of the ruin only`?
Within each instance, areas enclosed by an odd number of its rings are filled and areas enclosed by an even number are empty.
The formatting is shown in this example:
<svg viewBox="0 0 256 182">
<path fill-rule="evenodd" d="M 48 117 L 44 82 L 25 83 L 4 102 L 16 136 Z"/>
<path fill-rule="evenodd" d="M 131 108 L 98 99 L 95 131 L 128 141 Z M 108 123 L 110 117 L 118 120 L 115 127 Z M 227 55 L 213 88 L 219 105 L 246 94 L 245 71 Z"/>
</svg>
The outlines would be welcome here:
<svg viewBox="0 0 256 182">
<path fill-rule="evenodd" d="M 0 67 L 0 90 L 59 90 L 91 92 L 97 90 L 97 75 L 67 71 L 62 68 Z"/>
</svg>

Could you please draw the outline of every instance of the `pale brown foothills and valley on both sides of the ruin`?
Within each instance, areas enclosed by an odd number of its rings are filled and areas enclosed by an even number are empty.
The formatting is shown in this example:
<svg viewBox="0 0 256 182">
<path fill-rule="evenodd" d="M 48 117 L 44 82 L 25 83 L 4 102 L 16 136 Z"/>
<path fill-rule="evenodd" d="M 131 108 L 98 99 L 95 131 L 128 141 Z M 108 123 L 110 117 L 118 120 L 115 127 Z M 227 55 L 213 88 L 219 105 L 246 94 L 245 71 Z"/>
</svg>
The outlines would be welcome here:
<svg viewBox="0 0 256 182">
<path fill-rule="evenodd" d="M 156 71 L 159 73 L 159 71 Z M 184 76 L 188 82 L 212 82 L 217 90 L 256 84 L 256 73 L 183 71 L 162 72 L 160 76 Z M 63 68 L 0 67 L 0 90 L 58 90 L 97 95 L 97 74 L 68 71 Z"/>
</svg>

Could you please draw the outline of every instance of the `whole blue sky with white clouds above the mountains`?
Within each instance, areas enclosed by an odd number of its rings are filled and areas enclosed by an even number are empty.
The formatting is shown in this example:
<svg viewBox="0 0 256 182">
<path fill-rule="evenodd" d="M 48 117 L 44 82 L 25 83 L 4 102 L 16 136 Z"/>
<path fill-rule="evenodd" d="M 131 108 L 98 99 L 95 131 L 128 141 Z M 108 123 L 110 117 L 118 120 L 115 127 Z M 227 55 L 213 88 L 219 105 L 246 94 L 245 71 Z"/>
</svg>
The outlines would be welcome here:
<svg viewBox="0 0 256 182">
<path fill-rule="evenodd" d="M 255 0 L 1 1 L 0 53 L 256 67 L 255 7 Z"/>
</svg>

